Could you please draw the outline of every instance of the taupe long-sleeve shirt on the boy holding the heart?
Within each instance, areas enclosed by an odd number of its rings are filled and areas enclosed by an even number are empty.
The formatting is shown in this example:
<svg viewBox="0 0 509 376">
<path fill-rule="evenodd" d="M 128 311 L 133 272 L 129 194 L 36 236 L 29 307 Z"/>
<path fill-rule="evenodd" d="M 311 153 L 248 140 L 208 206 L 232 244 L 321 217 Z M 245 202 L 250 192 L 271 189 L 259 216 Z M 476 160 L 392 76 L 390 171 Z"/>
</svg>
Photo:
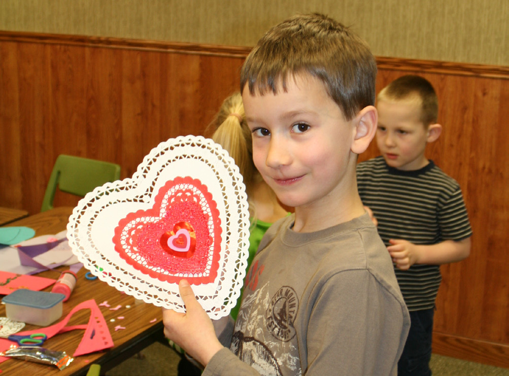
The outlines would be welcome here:
<svg viewBox="0 0 509 376">
<path fill-rule="evenodd" d="M 230 350 L 212 374 L 395 375 L 410 319 L 367 214 L 314 233 L 294 215 L 266 233 L 246 276 Z"/>
</svg>

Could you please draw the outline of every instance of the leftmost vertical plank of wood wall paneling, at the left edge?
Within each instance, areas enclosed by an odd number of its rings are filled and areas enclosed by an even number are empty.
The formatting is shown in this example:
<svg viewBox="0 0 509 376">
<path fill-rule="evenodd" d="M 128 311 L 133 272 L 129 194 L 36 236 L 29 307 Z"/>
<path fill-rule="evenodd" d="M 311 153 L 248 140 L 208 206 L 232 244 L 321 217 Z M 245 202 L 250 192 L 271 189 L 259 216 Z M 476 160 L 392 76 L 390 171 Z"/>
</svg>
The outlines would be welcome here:
<svg viewBox="0 0 509 376">
<path fill-rule="evenodd" d="M 23 207 L 21 189 L 21 134 L 19 132 L 19 81 L 17 43 L 0 44 L 0 199 Z"/>
</svg>

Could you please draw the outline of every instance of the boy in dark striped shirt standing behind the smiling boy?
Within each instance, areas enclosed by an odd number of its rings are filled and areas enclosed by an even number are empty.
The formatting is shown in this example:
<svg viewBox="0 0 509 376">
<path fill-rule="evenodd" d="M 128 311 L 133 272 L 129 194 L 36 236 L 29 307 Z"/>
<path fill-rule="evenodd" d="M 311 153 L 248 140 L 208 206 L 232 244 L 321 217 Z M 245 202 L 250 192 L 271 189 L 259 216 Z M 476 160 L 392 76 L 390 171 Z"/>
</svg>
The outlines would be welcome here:
<svg viewBox="0 0 509 376">
<path fill-rule="evenodd" d="M 378 220 L 410 312 L 398 375 L 431 375 L 440 265 L 468 256 L 472 230 L 458 182 L 425 156 L 426 145 L 442 131 L 431 83 L 400 77 L 380 92 L 377 110 L 381 156 L 358 164 L 359 194 Z"/>
</svg>

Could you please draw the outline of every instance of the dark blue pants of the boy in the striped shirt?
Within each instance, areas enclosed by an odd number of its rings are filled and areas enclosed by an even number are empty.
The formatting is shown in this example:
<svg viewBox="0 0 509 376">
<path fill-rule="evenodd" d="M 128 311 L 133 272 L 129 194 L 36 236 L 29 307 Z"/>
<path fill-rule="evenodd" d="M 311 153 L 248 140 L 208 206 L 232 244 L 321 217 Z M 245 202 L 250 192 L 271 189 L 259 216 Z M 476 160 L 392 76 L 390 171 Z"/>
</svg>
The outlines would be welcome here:
<svg viewBox="0 0 509 376">
<path fill-rule="evenodd" d="M 431 336 L 435 308 L 409 313 L 410 331 L 398 362 L 398 376 L 431 376 Z"/>
</svg>

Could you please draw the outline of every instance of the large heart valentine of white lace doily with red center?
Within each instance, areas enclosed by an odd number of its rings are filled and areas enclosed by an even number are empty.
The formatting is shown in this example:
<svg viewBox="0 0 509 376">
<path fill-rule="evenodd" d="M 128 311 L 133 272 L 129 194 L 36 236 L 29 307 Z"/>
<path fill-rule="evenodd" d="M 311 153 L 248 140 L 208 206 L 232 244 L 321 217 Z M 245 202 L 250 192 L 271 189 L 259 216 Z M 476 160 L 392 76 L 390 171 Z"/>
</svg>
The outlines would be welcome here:
<svg viewBox="0 0 509 376">
<path fill-rule="evenodd" d="M 92 274 L 135 298 L 184 312 L 186 278 L 212 319 L 228 315 L 246 273 L 249 213 L 242 176 L 201 136 L 161 142 L 131 179 L 74 208 L 67 238 Z"/>
</svg>

